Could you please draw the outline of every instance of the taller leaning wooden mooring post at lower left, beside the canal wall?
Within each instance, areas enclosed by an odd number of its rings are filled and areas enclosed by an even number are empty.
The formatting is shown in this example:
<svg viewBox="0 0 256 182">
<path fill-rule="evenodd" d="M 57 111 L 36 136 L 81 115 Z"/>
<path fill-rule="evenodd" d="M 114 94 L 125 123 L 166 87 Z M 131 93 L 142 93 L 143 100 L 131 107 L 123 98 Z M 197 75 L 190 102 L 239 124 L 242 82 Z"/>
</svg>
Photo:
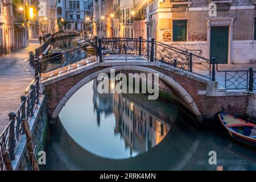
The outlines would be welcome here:
<svg viewBox="0 0 256 182">
<path fill-rule="evenodd" d="M 38 163 L 36 162 L 36 158 L 34 155 L 32 135 L 30 132 L 30 127 L 28 126 L 27 119 L 22 119 L 22 125 L 27 138 L 27 150 L 28 150 L 28 153 L 30 154 L 33 171 L 39 171 Z"/>
</svg>

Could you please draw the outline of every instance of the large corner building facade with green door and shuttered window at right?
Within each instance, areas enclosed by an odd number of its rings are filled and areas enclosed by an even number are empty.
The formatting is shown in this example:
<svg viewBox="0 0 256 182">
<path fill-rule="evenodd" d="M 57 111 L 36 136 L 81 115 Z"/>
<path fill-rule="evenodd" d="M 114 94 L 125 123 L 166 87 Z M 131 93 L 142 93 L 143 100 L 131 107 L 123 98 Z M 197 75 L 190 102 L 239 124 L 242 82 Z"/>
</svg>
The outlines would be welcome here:
<svg viewBox="0 0 256 182">
<path fill-rule="evenodd" d="M 255 3 L 155 0 L 146 10 L 147 38 L 219 64 L 256 63 Z"/>
</svg>

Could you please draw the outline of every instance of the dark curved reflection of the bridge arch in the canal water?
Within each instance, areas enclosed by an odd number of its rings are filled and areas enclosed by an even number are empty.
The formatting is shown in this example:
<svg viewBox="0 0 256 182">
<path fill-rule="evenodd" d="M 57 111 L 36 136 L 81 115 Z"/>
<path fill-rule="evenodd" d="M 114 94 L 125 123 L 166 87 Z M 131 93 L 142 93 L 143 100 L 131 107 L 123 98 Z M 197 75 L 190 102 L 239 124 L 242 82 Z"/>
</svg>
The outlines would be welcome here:
<svg viewBox="0 0 256 182">
<path fill-rule="evenodd" d="M 176 123 L 162 142 L 147 152 L 133 158 L 108 159 L 82 148 L 58 121 L 53 133 L 55 140 L 49 144 L 48 154 L 51 154 L 46 170 L 59 170 L 56 162 L 60 161 L 63 164 L 61 170 L 181 170 L 189 160 L 197 157 L 195 152 L 201 140 L 187 123 Z"/>
</svg>

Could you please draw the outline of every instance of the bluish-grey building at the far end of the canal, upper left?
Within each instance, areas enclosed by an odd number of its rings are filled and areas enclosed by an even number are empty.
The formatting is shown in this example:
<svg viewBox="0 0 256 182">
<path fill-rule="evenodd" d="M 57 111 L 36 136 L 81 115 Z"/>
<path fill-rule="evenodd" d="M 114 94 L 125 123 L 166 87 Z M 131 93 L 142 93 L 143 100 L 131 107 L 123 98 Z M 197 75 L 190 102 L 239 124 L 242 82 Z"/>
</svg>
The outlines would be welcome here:
<svg viewBox="0 0 256 182">
<path fill-rule="evenodd" d="M 92 17 L 92 2 L 90 0 L 57 0 L 57 18 L 65 21 L 67 29 L 86 31 Z"/>
</svg>

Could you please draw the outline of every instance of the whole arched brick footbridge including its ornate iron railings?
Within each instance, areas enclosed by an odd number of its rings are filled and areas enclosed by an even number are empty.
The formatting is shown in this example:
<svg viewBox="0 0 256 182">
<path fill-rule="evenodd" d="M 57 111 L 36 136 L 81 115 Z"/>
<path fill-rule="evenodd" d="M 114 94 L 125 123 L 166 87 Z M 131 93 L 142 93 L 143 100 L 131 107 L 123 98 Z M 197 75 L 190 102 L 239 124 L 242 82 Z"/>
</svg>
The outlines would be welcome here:
<svg viewBox="0 0 256 182">
<path fill-rule="evenodd" d="M 214 62 L 213 62 L 214 63 Z M 215 66 L 209 60 L 166 44 L 143 39 L 97 39 L 39 60 L 36 73 L 46 94 L 48 114 L 57 118 L 68 99 L 100 73 L 158 73 L 181 104 L 199 121 L 225 111 L 245 116 L 249 92 L 232 92 L 218 86 Z M 240 104 L 238 104 L 238 101 Z"/>
</svg>

